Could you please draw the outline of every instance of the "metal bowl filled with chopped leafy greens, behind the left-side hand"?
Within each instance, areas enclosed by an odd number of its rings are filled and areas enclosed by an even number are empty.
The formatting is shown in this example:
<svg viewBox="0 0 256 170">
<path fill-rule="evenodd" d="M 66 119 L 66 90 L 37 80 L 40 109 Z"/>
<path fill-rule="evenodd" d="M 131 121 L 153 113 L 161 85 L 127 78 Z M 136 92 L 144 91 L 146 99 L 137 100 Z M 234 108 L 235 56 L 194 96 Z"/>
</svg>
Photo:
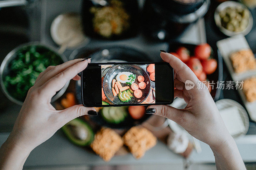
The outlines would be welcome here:
<svg viewBox="0 0 256 170">
<path fill-rule="evenodd" d="M 68 59 L 40 42 L 22 44 L 6 55 L 0 67 L 0 83 L 6 97 L 22 105 L 28 90 L 40 72 L 50 65 L 59 65 Z M 57 100 L 68 88 L 69 81 L 57 92 L 52 101 Z"/>
</svg>

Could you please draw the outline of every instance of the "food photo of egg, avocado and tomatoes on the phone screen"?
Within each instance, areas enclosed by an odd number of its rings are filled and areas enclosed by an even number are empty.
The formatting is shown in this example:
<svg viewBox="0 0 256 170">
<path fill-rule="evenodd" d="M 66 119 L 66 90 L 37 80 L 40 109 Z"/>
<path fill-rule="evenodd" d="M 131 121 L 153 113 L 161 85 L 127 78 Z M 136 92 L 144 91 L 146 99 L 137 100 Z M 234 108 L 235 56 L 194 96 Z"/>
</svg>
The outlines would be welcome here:
<svg viewBox="0 0 256 170">
<path fill-rule="evenodd" d="M 108 104 L 156 103 L 155 64 L 100 66 L 102 99 L 108 99 Z"/>
</svg>

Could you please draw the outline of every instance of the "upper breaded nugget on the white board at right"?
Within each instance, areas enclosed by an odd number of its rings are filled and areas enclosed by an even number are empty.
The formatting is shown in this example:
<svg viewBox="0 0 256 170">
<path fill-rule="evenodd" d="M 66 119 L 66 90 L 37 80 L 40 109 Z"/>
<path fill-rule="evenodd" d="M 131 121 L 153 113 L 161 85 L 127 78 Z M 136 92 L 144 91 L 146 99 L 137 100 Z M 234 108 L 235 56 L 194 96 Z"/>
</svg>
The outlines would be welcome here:
<svg viewBox="0 0 256 170">
<path fill-rule="evenodd" d="M 230 55 L 234 71 L 241 73 L 256 69 L 256 59 L 250 49 L 244 49 Z"/>
</svg>

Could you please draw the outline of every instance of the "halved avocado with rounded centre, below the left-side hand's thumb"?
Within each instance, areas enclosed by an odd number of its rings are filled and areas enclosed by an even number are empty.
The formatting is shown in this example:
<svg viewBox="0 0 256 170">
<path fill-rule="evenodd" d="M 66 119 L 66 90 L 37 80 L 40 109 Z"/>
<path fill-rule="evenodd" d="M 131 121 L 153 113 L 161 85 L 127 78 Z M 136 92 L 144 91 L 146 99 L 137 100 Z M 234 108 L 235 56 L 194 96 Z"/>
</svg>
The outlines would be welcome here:
<svg viewBox="0 0 256 170">
<path fill-rule="evenodd" d="M 79 118 L 66 123 L 61 129 L 68 139 L 78 146 L 88 146 L 94 139 L 92 128 Z"/>
</svg>

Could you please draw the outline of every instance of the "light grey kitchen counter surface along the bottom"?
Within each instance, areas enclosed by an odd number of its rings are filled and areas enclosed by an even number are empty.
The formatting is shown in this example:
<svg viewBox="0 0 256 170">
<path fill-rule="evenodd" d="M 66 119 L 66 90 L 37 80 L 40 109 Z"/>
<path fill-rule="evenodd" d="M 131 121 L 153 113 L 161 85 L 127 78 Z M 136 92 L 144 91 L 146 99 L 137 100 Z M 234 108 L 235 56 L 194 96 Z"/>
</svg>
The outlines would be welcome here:
<svg viewBox="0 0 256 170">
<path fill-rule="evenodd" d="M 0 145 L 9 136 L 9 133 L 0 134 Z M 189 157 L 190 164 L 214 163 L 215 159 L 209 145 L 200 142 L 201 153 L 194 150 Z M 255 162 L 256 160 L 256 137 L 246 135 L 236 139 L 239 152 L 244 162 Z M 58 130 L 49 140 L 37 146 L 28 156 L 24 168 L 36 167 L 64 167 L 64 166 L 123 166 L 140 164 L 173 164 L 183 167 L 187 162 L 181 156 L 171 152 L 168 147 L 158 141 L 156 146 L 146 152 L 139 160 L 133 158 L 132 154 L 115 156 L 109 162 L 104 162 L 99 156 L 87 150 L 71 144 L 61 130 Z"/>
</svg>

